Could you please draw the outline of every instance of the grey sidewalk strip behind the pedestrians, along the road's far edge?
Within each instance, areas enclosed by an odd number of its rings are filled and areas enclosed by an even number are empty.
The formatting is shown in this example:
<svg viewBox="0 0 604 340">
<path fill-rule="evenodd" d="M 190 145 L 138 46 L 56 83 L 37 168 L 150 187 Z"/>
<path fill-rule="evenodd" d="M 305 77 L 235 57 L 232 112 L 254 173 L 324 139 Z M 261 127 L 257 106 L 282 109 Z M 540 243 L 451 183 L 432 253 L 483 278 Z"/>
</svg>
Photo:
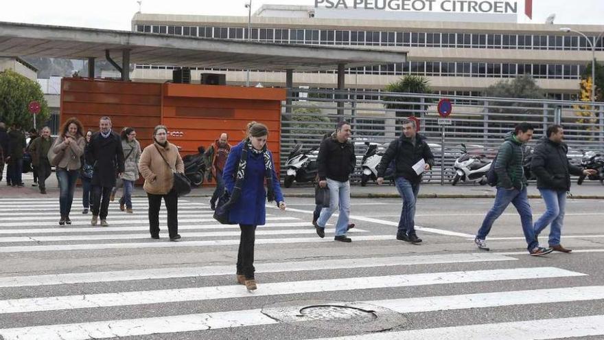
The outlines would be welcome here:
<svg viewBox="0 0 604 340">
<path fill-rule="evenodd" d="M 0 198 L 34 198 L 34 197 L 58 197 L 58 188 L 55 174 L 47 179 L 47 195 L 41 195 L 37 187 L 32 187 L 32 180 L 25 179 L 24 188 L 7 187 L 5 181 L 0 183 Z M 213 192 L 212 187 L 197 188 L 191 191 L 187 197 L 209 197 Z M 458 184 L 452 186 L 445 183 L 441 186 L 436 183 L 422 184 L 419 189 L 420 198 L 432 199 L 485 199 L 495 197 L 495 188 L 489 185 Z M 583 185 L 572 183 L 573 199 L 603 199 L 604 186 L 598 181 L 586 181 Z M 314 197 L 312 185 L 299 185 L 294 183 L 292 188 L 283 188 L 283 194 L 287 197 Z M 75 190 L 75 197 L 81 197 L 80 188 Z M 121 194 L 118 194 L 121 196 Z M 146 197 L 146 193 L 141 187 L 136 187 L 133 196 Z M 375 185 L 368 184 L 366 187 L 352 185 L 351 196 L 355 198 L 398 198 L 399 194 L 394 185 Z M 540 198 L 539 191 L 534 183 L 529 185 L 529 197 Z"/>
</svg>

